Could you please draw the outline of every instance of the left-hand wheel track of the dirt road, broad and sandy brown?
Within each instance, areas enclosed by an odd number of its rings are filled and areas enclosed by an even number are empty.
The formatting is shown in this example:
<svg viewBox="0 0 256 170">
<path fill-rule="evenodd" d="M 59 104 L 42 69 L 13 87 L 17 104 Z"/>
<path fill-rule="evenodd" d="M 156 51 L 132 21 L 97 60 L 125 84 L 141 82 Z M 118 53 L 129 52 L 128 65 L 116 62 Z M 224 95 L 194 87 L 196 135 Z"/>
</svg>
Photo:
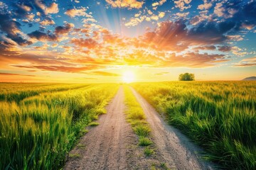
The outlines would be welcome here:
<svg viewBox="0 0 256 170">
<path fill-rule="evenodd" d="M 131 144 L 136 136 L 124 118 L 124 92 L 122 87 L 109 106 L 107 114 L 101 115 L 99 123 L 92 128 L 70 154 L 64 169 L 133 169 Z M 85 145 L 85 148 L 78 146 Z"/>
</svg>

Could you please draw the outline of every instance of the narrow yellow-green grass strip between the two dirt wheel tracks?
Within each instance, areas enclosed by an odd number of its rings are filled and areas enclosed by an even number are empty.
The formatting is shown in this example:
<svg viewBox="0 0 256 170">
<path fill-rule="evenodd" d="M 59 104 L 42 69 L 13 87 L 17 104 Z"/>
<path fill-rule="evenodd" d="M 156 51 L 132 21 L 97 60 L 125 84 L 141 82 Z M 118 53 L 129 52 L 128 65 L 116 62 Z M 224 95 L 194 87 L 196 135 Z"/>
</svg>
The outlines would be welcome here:
<svg viewBox="0 0 256 170">
<path fill-rule="evenodd" d="M 132 130 L 139 137 L 139 146 L 146 147 L 152 145 L 153 142 L 150 140 L 151 128 L 146 122 L 146 115 L 139 105 L 137 99 L 132 94 L 129 86 L 124 86 L 125 104 L 127 105 L 126 117 L 127 121 L 132 125 Z M 149 157 L 154 154 L 154 151 L 149 147 L 144 148 L 144 154 Z"/>
</svg>

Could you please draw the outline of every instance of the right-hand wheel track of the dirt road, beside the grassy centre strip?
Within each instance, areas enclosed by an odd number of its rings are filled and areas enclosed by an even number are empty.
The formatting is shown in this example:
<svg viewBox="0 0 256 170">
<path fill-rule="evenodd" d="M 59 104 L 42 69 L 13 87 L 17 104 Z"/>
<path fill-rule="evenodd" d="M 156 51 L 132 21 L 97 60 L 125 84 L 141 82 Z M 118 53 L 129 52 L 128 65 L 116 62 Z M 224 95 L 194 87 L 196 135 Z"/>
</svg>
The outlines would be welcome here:
<svg viewBox="0 0 256 170">
<path fill-rule="evenodd" d="M 132 92 L 141 104 L 147 121 L 151 125 L 153 141 L 161 157 L 165 162 L 169 162 L 169 167 L 182 170 L 215 169 L 215 165 L 203 162 L 196 154 L 202 153 L 202 149 L 193 145 L 181 132 L 167 125 L 159 113 L 137 91 L 132 89 Z"/>
</svg>

